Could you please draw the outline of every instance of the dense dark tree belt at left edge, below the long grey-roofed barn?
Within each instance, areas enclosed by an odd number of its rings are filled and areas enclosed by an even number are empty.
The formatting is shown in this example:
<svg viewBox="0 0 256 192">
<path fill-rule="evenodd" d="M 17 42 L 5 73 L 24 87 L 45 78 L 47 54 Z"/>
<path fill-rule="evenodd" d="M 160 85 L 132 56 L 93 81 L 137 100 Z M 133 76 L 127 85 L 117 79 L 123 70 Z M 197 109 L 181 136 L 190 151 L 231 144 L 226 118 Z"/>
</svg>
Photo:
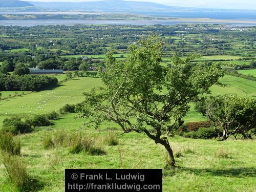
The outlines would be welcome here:
<svg viewBox="0 0 256 192">
<path fill-rule="evenodd" d="M 57 83 L 57 78 L 44 75 L 0 74 L 0 91 L 40 91 Z"/>
</svg>

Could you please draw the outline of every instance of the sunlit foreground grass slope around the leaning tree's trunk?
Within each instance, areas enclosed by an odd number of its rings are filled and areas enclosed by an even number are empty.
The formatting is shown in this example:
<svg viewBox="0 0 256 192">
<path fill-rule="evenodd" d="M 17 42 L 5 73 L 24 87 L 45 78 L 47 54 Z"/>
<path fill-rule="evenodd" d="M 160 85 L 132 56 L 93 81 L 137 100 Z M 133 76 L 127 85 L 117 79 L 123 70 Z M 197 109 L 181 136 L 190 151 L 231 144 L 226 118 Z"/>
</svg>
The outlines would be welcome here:
<svg viewBox="0 0 256 192">
<path fill-rule="evenodd" d="M 55 121 L 51 129 L 43 129 L 19 136 L 22 141 L 22 156 L 28 162 L 33 178 L 44 187 L 38 191 L 64 191 L 65 168 L 163 168 L 164 148 L 156 145 L 143 134 L 118 136 L 119 144 L 106 146 L 101 142 L 107 134 L 92 129 L 78 130 L 83 120 L 70 114 Z M 68 147 L 45 150 L 42 138 L 60 132 L 80 132 L 94 136 L 98 145 L 106 152 L 104 156 L 70 154 Z M 255 141 L 185 139 L 175 137 L 171 145 L 176 158 L 176 170 L 163 170 L 163 191 L 255 191 Z M 16 191 L 4 179 L 4 168 L 0 167 L 1 191 Z"/>
</svg>

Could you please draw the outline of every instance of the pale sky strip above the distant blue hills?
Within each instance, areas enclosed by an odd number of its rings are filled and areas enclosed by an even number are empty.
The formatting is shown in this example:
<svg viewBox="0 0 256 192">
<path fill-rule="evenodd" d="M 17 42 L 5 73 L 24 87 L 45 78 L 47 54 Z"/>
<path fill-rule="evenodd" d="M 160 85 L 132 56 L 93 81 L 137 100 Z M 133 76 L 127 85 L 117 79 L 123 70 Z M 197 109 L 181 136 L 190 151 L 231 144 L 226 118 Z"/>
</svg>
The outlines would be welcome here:
<svg viewBox="0 0 256 192">
<path fill-rule="evenodd" d="M 27 0 L 33 2 L 92 2 L 95 0 Z M 129 0 L 154 2 L 169 6 L 217 8 L 217 9 L 256 9 L 255 0 Z"/>
</svg>

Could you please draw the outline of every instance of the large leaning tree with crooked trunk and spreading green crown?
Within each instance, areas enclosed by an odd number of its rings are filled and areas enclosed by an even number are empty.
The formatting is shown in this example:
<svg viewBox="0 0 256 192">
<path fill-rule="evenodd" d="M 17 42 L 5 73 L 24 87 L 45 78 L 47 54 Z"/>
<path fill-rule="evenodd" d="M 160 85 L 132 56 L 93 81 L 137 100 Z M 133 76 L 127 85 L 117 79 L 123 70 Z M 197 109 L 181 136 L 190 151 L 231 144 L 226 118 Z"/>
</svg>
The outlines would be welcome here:
<svg viewBox="0 0 256 192">
<path fill-rule="evenodd" d="M 167 151 L 169 164 L 175 159 L 167 135 L 180 124 L 189 103 L 209 92 L 223 76 L 220 65 L 191 63 L 193 57 L 173 57 L 172 67 L 160 65 L 163 43 L 157 37 L 142 39 L 130 47 L 124 61 L 106 55 L 100 73 L 104 87 L 84 93 L 78 107 L 80 117 L 92 119 L 97 128 L 104 121 L 117 123 L 124 133 L 144 133 Z M 87 123 L 88 124 L 88 123 Z"/>
</svg>

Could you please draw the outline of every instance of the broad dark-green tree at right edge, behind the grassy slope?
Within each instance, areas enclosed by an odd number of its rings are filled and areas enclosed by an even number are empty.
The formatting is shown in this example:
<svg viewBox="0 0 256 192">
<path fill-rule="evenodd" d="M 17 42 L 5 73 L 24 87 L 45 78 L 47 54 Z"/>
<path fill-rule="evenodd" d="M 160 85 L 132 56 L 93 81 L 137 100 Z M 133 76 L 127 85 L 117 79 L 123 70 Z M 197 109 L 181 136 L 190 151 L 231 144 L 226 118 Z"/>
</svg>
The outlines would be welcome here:
<svg viewBox="0 0 256 192">
<path fill-rule="evenodd" d="M 256 99 L 239 98 L 237 95 L 218 95 L 201 98 L 196 109 L 208 117 L 215 131 L 222 132 L 222 140 L 241 134 L 251 138 L 248 131 L 256 126 Z"/>
</svg>

